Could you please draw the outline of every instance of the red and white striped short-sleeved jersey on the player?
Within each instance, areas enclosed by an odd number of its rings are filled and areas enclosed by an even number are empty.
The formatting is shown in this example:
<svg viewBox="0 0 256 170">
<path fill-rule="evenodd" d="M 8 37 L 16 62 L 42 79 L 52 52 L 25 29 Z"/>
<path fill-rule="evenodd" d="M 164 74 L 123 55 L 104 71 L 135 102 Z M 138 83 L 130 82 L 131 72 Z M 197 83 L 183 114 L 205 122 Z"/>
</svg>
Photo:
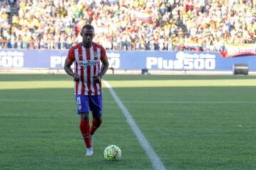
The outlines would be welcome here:
<svg viewBox="0 0 256 170">
<path fill-rule="evenodd" d="M 80 81 L 75 81 L 75 94 L 102 94 L 101 82 L 95 83 L 93 77 L 100 74 L 100 60 L 105 57 L 106 50 L 95 42 L 92 42 L 90 49 L 83 47 L 82 43 L 70 48 L 68 59 L 75 63 L 74 72 L 80 76 Z"/>
</svg>

